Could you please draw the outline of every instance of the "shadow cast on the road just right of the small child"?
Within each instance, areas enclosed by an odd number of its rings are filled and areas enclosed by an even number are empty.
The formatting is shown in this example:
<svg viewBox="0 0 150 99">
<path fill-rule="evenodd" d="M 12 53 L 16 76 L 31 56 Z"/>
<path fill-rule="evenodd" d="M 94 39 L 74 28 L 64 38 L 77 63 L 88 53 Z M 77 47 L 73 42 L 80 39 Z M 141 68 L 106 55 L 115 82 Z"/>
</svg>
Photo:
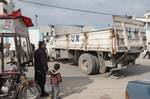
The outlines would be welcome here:
<svg viewBox="0 0 150 99">
<path fill-rule="evenodd" d="M 61 98 L 81 93 L 93 80 L 89 77 L 64 77 L 61 85 Z"/>
</svg>

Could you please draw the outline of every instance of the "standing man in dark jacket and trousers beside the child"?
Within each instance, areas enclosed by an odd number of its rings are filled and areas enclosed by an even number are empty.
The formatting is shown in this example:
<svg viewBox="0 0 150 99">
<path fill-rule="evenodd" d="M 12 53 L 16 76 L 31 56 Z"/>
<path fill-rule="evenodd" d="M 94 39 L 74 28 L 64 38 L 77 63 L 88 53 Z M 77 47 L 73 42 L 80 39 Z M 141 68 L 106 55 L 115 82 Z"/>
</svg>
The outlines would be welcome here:
<svg viewBox="0 0 150 99">
<path fill-rule="evenodd" d="M 46 72 L 48 71 L 47 55 L 46 55 L 46 44 L 44 41 L 39 42 L 39 48 L 34 52 L 34 63 L 35 63 L 35 80 L 41 87 L 41 96 L 47 96 L 45 93 L 45 82 Z"/>
</svg>

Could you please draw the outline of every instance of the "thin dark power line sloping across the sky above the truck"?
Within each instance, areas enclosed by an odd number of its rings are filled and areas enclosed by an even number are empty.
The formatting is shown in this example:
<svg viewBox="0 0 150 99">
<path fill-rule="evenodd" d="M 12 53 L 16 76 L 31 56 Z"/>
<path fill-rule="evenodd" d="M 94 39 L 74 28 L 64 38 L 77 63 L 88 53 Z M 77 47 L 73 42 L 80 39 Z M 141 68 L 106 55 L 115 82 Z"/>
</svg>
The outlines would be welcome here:
<svg viewBox="0 0 150 99">
<path fill-rule="evenodd" d="M 38 2 L 26 1 L 26 0 L 18 0 L 18 1 L 26 2 L 26 3 L 30 3 L 30 4 L 35 4 L 35 5 L 41 5 L 41 6 L 65 9 L 65 10 L 72 10 L 72 11 L 79 11 L 79 12 L 86 12 L 86 13 L 93 13 L 93 14 L 100 14 L 100 15 L 111 15 L 111 16 L 115 15 L 115 14 L 111 14 L 111 13 L 96 12 L 96 11 L 82 10 L 82 9 L 76 9 L 76 8 L 68 8 L 68 7 L 63 7 L 63 6 L 57 6 L 57 5 L 51 5 L 51 4 L 43 4 L 43 3 L 38 3 Z"/>
</svg>

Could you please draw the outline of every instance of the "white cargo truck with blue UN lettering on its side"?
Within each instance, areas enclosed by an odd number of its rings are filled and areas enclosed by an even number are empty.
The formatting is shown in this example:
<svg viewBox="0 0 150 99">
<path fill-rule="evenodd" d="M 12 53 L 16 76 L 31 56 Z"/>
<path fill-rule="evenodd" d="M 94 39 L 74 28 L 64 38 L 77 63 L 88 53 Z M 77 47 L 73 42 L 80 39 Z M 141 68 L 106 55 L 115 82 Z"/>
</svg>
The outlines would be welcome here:
<svg viewBox="0 0 150 99">
<path fill-rule="evenodd" d="M 87 74 L 105 73 L 135 64 L 143 47 L 144 23 L 113 16 L 110 29 L 57 34 L 53 57 L 78 63 Z"/>
</svg>

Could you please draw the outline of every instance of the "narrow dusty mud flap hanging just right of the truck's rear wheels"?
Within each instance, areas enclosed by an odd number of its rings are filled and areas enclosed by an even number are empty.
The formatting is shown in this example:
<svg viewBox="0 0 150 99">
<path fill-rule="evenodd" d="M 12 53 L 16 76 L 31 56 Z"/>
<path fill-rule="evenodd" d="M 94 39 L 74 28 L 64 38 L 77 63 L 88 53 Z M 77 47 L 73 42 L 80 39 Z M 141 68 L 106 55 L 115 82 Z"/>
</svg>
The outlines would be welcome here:
<svg viewBox="0 0 150 99">
<path fill-rule="evenodd" d="M 105 66 L 105 59 L 100 55 L 100 68 L 99 73 L 103 74 L 107 72 L 107 67 Z"/>
</svg>

